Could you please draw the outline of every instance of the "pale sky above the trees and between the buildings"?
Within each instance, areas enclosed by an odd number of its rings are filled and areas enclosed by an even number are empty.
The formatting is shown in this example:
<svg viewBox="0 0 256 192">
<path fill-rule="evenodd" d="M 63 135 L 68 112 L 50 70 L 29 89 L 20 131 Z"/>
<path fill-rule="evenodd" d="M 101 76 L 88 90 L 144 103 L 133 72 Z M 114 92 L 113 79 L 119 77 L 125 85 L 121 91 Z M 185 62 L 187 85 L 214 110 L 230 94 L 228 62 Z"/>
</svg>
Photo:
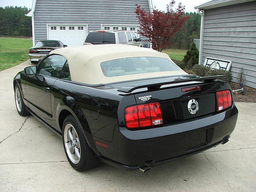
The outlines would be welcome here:
<svg viewBox="0 0 256 192">
<path fill-rule="evenodd" d="M 171 0 L 152 0 L 153 6 L 156 6 L 158 10 L 166 11 L 166 4 L 170 3 Z M 176 0 L 176 4 L 181 3 L 185 6 L 185 12 L 194 12 L 195 6 L 206 3 L 210 0 Z M 0 7 L 5 6 L 18 6 L 18 7 L 32 7 L 33 0 L 0 0 Z"/>
</svg>

